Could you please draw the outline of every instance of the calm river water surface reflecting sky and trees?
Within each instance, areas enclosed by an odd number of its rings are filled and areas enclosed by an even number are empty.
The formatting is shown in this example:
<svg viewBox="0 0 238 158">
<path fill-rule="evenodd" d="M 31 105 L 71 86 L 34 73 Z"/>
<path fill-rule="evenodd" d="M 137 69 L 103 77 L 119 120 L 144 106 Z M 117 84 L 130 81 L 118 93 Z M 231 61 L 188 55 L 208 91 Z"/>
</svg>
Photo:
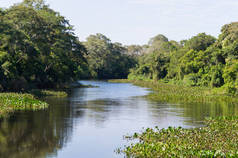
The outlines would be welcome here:
<svg viewBox="0 0 238 158">
<path fill-rule="evenodd" d="M 16 113 L 0 122 L 0 157 L 120 158 L 123 135 L 143 127 L 200 127 L 205 117 L 238 115 L 237 105 L 162 104 L 150 90 L 127 83 L 81 81 L 99 88 L 74 89 L 66 99 L 47 98 L 50 108 Z"/>
</svg>

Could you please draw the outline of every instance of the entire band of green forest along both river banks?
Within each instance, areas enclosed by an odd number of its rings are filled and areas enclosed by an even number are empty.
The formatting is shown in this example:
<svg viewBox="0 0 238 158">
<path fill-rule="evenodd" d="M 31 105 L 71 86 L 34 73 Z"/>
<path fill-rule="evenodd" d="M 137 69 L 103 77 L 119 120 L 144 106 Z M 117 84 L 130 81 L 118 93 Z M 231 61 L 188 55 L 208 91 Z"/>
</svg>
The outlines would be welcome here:
<svg viewBox="0 0 238 158">
<path fill-rule="evenodd" d="M 161 80 L 189 86 L 238 88 L 238 23 L 218 39 L 200 33 L 176 42 L 164 35 L 123 46 L 102 34 L 80 42 L 73 26 L 43 0 L 0 9 L 0 90 L 57 88 L 78 79 Z"/>
</svg>

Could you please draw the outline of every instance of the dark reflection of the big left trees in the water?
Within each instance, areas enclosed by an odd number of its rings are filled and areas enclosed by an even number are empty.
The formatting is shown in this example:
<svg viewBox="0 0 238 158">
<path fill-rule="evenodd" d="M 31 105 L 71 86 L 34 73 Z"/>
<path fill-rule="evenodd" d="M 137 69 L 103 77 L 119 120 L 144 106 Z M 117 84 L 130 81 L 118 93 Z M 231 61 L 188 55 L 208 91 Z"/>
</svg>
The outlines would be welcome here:
<svg viewBox="0 0 238 158">
<path fill-rule="evenodd" d="M 47 99 L 46 111 L 16 113 L 0 122 L 0 157 L 38 158 L 56 154 L 72 135 L 72 109 L 65 100 Z M 67 118 L 67 119 L 66 119 Z"/>
</svg>

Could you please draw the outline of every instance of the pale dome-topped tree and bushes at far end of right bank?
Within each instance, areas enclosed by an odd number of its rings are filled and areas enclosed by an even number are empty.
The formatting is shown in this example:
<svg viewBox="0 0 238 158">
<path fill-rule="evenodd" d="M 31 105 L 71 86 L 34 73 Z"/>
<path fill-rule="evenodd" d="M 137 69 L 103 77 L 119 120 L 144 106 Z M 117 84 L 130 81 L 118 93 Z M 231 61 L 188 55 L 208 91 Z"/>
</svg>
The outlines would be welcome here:
<svg viewBox="0 0 238 158">
<path fill-rule="evenodd" d="M 168 74 L 170 55 L 176 51 L 179 44 L 168 41 L 163 35 L 157 35 L 149 41 L 148 47 L 138 59 L 138 65 L 131 69 L 128 78 L 141 80 L 159 80 Z"/>
</svg>

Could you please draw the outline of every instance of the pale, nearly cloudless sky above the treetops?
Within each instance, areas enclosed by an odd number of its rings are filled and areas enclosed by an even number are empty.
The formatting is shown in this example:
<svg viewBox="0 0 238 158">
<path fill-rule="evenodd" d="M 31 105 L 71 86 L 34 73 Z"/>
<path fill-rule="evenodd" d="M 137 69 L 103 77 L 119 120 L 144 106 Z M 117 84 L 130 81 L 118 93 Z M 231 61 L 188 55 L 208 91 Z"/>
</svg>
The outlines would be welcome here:
<svg viewBox="0 0 238 158">
<path fill-rule="evenodd" d="M 7 8 L 21 0 L 0 0 Z M 85 41 L 102 33 L 124 45 L 147 44 L 157 34 L 180 41 L 198 33 L 218 37 L 221 27 L 238 21 L 238 0 L 46 0 Z"/>
</svg>

